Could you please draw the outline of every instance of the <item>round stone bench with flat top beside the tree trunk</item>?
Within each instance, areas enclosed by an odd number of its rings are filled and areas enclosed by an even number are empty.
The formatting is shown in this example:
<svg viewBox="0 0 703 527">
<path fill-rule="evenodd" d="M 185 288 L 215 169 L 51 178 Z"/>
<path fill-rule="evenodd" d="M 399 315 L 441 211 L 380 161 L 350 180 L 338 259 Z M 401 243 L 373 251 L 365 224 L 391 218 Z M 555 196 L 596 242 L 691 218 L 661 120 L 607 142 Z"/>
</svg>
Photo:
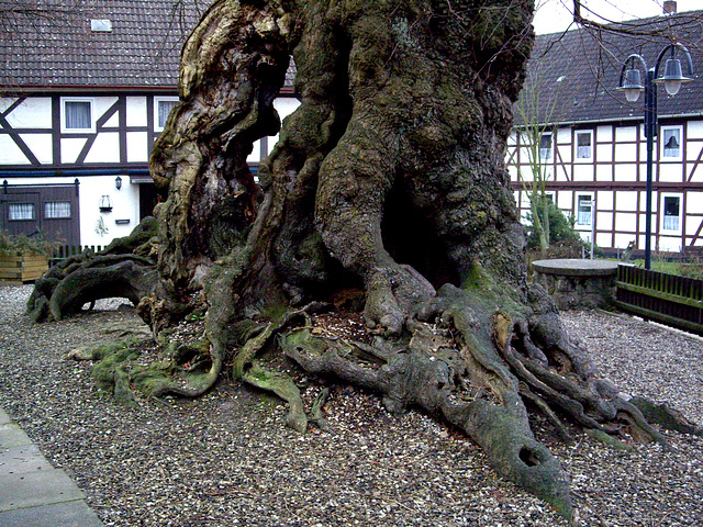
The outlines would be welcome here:
<svg viewBox="0 0 703 527">
<path fill-rule="evenodd" d="M 615 299 L 617 261 L 557 259 L 533 261 L 533 281 L 560 310 L 606 307 Z"/>
</svg>

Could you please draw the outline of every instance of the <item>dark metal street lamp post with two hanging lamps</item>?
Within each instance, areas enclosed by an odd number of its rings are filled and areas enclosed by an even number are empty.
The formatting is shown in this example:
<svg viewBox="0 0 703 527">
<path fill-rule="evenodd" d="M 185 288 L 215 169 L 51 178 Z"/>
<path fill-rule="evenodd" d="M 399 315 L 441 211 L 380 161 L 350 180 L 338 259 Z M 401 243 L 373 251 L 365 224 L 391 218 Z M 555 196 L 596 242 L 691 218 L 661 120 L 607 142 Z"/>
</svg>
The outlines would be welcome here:
<svg viewBox="0 0 703 527">
<path fill-rule="evenodd" d="M 637 102 L 639 94 L 645 92 L 645 137 L 647 137 L 647 192 L 645 214 L 645 269 L 651 268 L 651 192 L 654 172 L 655 137 L 657 136 L 657 87 L 662 83 L 667 93 L 676 96 L 683 82 L 692 79 L 684 77 L 681 69 L 681 60 L 677 58 L 677 52 L 681 52 L 685 58 L 689 75 L 693 75 L 693 61 L 691 54 L 681 44 L 669 44 L 665 47 L 654 68 L 648 68 L 641 55 L 633 54 L 625 60 L 620 74 L 617 90 L 625 92 L 628 102 Z M 665 65 L 663 76 L 659 76 L 661 61 L 670 54 Z M 645 83 L 641 82 L 639 68 L 645 71 Z"/>
</svg>

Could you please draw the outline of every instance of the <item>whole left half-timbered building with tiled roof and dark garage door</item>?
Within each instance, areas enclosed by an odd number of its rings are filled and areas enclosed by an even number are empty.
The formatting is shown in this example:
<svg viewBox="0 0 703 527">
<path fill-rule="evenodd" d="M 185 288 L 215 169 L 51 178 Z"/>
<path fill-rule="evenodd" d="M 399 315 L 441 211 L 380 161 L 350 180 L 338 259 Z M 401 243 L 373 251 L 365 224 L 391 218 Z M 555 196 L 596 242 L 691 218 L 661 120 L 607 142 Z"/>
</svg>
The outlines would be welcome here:
<svg viewBox="0 0 703 527">
<path fill-rule="evenodd" d="M 16 18 L 0 38 L 0 229 L 104 246 L 156 204 L 148 157 L 178 100 L 182 41 L 204 5 L 87 5 L 53 22 Z M 287 85 L 281 119 L 298 105 Z M 254 170 L 275 142 L 257 142 Z"/>
</svg>

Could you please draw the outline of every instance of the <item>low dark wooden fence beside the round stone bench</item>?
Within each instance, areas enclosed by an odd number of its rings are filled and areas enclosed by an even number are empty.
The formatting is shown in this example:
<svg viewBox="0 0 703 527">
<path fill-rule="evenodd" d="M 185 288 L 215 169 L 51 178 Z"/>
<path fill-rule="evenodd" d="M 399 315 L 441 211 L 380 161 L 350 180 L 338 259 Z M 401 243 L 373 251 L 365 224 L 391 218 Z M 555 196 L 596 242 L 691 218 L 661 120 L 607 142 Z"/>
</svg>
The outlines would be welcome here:
<svg viewBox="0 0 703 527">
<path fill-rule="evenodd" d="M 703 335 L 703 280 L 621 265 L 615 285 L 617 309 Z"/>
</svg>

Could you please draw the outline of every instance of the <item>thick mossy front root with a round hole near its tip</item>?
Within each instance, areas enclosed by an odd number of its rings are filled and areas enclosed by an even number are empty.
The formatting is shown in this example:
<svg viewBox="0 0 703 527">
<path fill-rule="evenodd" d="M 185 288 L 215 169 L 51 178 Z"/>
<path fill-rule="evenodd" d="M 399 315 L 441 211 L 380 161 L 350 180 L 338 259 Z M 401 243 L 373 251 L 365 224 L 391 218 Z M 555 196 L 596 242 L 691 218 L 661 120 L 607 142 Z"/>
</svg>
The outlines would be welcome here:
<svg viewBox="0 0 703 527">
<path fill-rule="evenodd" d="M 315 335 L 308 318 L 280 343 L 305 371 L 379 392 L 392 412 L 416 405 L 443 417 L 476 440 L 503 476 L 570 517 L 569 478 L 529 430 L 517 384 L 491 349 L 490 328 L 483 343 L 466 335 L 447 338 L 442 329 L 457 327 L 416 323 L 404 346 L 380 337 L 368 346 Z M 489 348 L 481 348 L 487 341 Z"/>
</svg>

